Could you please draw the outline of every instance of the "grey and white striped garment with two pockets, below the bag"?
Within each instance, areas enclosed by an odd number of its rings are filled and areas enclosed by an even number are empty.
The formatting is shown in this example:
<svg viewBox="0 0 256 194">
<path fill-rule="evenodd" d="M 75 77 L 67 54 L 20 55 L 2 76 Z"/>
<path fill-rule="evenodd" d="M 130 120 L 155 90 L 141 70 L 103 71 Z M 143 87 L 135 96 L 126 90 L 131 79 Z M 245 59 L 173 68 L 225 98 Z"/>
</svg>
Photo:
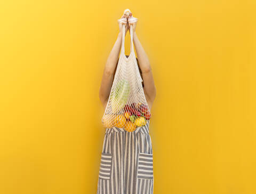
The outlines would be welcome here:
<svg viewBox="0 0 256 194">
<path fill-rule="evenodd" d="M 97 194 L 153 194 L 153 149 L 146 125 L 128 132 L 106 128 Z"/>
</svg>

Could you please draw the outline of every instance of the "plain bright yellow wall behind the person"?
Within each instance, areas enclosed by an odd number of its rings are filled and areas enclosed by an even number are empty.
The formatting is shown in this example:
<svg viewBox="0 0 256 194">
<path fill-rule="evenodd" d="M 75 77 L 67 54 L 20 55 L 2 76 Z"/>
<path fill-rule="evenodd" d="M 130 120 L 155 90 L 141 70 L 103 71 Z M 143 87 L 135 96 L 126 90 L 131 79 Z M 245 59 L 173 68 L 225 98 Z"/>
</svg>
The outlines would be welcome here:
<svg viewBox="0 0 256 194">
<path fill-rule="evenodd" d="M 253 0 L 1 1 L 0 193 L 96 193 L 98 91 L 126 8 L 157 87 L 154 193 L 256 193 Z"/>
</svg>

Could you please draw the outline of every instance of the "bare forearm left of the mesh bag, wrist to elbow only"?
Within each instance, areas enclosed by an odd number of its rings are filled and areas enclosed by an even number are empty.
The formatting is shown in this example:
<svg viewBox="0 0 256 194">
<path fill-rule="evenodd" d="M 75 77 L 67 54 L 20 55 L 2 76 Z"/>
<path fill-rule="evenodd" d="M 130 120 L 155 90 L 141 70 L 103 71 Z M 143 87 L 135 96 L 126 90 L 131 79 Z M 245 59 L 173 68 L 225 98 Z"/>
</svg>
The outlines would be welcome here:
<svg viewBox="0 0 256 194">
<path fill-rule="evenodd" d="M 121 43 L 122 43 L 122 33 L 119 33 L 105 65 L 105 70 L 110 74 L 113 74 L 116 68 L 116 63 L 118 61 L 118 57 L 121 49 Z"/>
</svg>

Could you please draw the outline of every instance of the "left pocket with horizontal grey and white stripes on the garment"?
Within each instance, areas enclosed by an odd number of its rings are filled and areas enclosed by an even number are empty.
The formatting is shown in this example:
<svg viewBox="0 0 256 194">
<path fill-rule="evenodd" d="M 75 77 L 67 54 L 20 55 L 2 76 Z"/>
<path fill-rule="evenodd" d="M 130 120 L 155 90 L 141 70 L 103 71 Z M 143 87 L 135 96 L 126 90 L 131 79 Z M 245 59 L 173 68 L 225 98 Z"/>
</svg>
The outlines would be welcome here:
<svg viewBox="0 0 256 194">
<path fill-rule="evenodd" d="M 101 153 L 100 172 L 101 179 L 110 179 L 112 167 L 112 153 Z"/>
</svg>

